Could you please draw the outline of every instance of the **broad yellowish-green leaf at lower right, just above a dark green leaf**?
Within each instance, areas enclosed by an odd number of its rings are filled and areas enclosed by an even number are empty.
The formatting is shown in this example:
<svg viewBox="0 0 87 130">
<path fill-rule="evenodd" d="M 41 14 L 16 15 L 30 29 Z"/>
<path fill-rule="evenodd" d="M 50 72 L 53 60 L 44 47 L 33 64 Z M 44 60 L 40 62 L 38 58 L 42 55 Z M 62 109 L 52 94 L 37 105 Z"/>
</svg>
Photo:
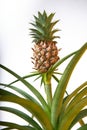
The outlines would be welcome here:
<svg viewBox="0 0 87 130">
<path fill-rule="evenodd" d="M 59 123 L 58 130 L 68 130 L 76 115 L 87 105 L 87 97 L 81 99 L 71 110 L 64 114 Z"/>
</svg>

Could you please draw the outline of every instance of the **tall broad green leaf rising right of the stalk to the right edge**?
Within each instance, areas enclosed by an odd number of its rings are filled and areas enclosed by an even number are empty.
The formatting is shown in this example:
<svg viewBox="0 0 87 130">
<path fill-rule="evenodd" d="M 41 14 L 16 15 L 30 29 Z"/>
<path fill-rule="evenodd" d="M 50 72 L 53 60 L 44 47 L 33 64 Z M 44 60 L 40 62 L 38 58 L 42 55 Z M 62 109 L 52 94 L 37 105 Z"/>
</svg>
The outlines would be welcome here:
<svg viewBox="0 0 87 130">
<path fill-rule="evenodd" d="M 52 109 L 51 109 L 51 120 L 52 120 L 52 124 L 54 127 L 56 127 L 56 125 L 57 125 L 57 119 L 61 112 L 63 97 L 64 97 L 64 93 L 65 93 L 67 84 L 69 82 L 70 76 L 71 76 L 76 64 L 78 63 L 79 59 L 81 58 L 83 53 L 86 51 L 86 49 L 87 49 L 87 43 L 85 43 L 81 47 L 81 49 L 79 49 L 76 52 L 76 54 L 73 56 L 73 58 L 67 65 L 63 75 L 61 76 L 58 87 L 56 88 L 56 91 L 55 91 L 54 97 L 53 97 L 53 102 L 52 102 Z M 63 60 L 65 60 L 65 59 L 63 59 Z M 58 63 L 57 63 L 57 66 L 58 66 Z M 55 115 L 55 113 L 56 113 L 56 115 Z"/>
</svg>

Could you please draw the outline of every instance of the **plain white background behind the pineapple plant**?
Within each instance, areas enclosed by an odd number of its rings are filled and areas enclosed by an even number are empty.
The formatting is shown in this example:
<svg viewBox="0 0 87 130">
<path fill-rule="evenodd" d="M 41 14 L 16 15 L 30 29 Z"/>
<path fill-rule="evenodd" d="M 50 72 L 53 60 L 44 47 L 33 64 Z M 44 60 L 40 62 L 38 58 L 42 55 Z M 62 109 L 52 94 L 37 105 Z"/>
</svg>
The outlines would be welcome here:
<svg viewBox="0 0 87 130">
<path fill-rule="evenodd" d="M 61 39 L 57 39 L 58 47 L 62 48 L 60 58 L 87 42 L 87 0 L 0 0 L 0 60 L 21 76 L 33 71 L 29 23 L 33 15 L 44 10 L 55 13 L 54 20 L 60 19 L 56 25 L 62 30 L 58 33 Z M 76 66 L 68 92 L 87 80 L 86 68 L 87 53 Z M 0 77 L 1 82 L 13 79 L 4 71 Z"/>
</svg>

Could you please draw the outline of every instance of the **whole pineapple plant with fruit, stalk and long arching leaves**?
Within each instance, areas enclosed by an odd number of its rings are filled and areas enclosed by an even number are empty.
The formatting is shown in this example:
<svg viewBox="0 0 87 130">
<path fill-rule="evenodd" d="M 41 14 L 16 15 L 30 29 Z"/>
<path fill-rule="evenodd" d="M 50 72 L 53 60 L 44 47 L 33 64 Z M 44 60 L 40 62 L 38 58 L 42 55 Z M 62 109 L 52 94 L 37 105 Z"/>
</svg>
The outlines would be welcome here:
<svg viewBox="0 0 87 130">
<path fill-rule="evenodd" d="M 38 16 L 34 16 L 34 23 L 31 23 L 34 27 L 30 30 L 35 42 L 32 58 L 36 69 L 35 72 L 21 77 L 9 68 L 0 65 L 3 70 L 17 78 L 17 80 L 9 84 L 0 83 L 2 86 L 0 89 L 0 101 L 16 103 L 32 115 L 17 109 L 15 105 L 14 108 L 1 105 L 1 111 L 13 113 L 27 122 L 27 125 L 20 125 L 11 122 L 11 120 L 10 122 L 0 121 L 0 125 L 5 126 L 5 128 L 2 128 L 3 130 L 70 130 L 77 122 L 81 125 L 79 130 L 87 129 L 87 124 L 83 121 L 83 118 L 87 116 L 87 108 L 85 107 L 87 105 L 87 81 L 77 87 L 71 94 L 66 91 L 76 64 L 87 50 L 87 43 L 79 50 L 60 59 L 58 56 L 59 49 L 56 46 L 57 42 L 54 41 L 55 38 L 59 38 L 59 36 L 54 35 L 55 32 L 59 31 L 59 29 L 54 29 L 54 25 L 59 20 L 53 22 L 53 17 L 54 13 L 47 15 L 45 11 L 42 14 L 38 12 Z M 71 58 L 70 62 L 64 72 L 62 74 L 59 73 L 57 68 L 68 58 Z M 58 74 L 61 75 L 60 79 L 58 79 Z M 34 85 L 26 80 L 33 76 L 37 76 L 36 79 L 41 80 L 41 85 L 44 85 L 46 99 Z M 52 88 L 55 84 L 52 84 L 52 78 L 57 83 L 54 93 L 52 93 Z M 34 96 L 17 87 L 16 85 L 19 81 Z"/>
</svg>

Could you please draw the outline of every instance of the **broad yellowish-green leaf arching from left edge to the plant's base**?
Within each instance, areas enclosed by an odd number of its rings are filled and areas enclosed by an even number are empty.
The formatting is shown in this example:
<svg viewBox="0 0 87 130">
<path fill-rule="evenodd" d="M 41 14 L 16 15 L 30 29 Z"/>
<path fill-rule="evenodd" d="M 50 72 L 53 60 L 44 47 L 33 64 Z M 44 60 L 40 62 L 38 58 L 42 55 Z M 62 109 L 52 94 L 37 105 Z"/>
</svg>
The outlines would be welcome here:
<svg viewBox="0 0 87 130">
<path fill-rule="evenodd" d="M 29 112 L 34 115 L 34 117 L 37 118 L 37 120 L 40 122 L 40 124 L 43 126 L 44 129 L 47 130 L 53 130 L 50 119 L 48 115 L 45 113 L 45 111 L 37 104 L 33 103 L 32 101 L 15 97 L 15 96 L 1 96 L 1 101 L 7 101 L 7 102 L 13 102 L 21 105 L 25 109 L 27 109 Z"/>
</svg>

